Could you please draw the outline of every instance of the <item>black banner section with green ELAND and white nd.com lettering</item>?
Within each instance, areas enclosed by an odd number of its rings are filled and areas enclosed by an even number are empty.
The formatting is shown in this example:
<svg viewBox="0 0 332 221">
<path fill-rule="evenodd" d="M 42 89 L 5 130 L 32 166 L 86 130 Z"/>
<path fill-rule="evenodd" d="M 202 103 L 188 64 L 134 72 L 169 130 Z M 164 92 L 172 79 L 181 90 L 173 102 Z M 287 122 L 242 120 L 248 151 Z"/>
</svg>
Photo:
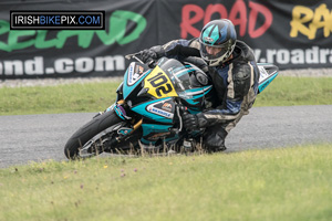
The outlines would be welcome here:
<svg viewBox="0 0 332 221">
<path fill-rule="evenodd" d="M 155 1 L 1 3 L 0 78 L 118 76 L 125 54 L 157 43 Z M 10 11 L 105 11 L 105 30 L 10 30 Z M 55 22 L 55 20 L 53 20 Z M 149 39 L 149 33 L 153 36 Z M 152 42 L 154 40 L 154 42 Z"/>
</svg>

